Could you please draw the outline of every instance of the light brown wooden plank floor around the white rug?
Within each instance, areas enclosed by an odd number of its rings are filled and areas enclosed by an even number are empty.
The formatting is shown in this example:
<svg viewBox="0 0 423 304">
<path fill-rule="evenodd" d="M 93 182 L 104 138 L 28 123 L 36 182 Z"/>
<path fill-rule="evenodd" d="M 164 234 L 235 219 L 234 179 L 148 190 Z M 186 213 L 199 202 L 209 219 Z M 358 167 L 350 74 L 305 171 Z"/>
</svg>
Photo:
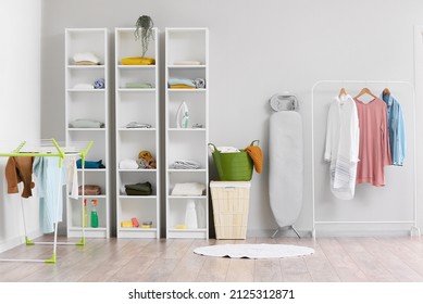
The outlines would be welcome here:
<svg viewBox="0 0 423 304">
<path fill-rule="evenodd" d="M 279 259 L 207 257 L 192 253 L 215 243 L 285 243 L 312 246 L 313 255 Z M 20 245 L 0 258 L 49 258 L 51 245 Z M 88 239 L 85 246 L 59 245 L 55 264 L 0 262 L 0 281 L 419 281 L 423 240 L 319 238 L 216 240 Z"/>
</svg>

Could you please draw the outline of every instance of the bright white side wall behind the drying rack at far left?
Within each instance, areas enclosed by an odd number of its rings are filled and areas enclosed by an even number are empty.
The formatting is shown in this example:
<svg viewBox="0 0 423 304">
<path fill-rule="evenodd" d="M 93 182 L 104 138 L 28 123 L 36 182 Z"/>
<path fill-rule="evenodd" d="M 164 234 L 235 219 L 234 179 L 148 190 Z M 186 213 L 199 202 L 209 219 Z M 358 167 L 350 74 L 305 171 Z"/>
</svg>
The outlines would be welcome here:
<svg viewBox="0 0 423 304">
<path fill-rule="evenodd" d="M 41 1 L 4 1 L 0 11 L 0 151 L 40 138 Z M 21 199 L 8 195 L 0 160 L 0 252 L 24 236 Z M 38 201 L 25 200 L 28 235 L 38 231 Z"/>
</svg>

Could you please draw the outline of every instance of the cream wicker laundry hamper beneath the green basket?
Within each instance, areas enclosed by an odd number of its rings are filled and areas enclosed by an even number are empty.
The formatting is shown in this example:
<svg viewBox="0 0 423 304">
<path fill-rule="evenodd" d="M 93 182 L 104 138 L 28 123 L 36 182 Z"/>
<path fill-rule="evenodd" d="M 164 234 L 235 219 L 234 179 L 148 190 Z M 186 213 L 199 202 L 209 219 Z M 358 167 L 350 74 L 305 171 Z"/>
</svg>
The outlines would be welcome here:
<svg viewBox="0 0 423 304">
<path fill-rule="evenodd" d="M 211 181 L 217 240 L 245 240 L 250 201 L 249 181 Z"/>
</svg>

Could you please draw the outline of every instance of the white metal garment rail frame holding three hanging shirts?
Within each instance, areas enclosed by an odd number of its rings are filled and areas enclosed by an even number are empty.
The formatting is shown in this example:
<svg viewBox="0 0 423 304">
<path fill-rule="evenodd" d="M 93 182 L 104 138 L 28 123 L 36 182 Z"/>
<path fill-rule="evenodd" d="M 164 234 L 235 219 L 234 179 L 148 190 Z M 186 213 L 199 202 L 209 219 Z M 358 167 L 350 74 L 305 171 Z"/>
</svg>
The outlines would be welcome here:
<svg viewBox="0 0 423 304">
<path fill-rule="evenodd" d="M 314 164 L 314 96 L 316 88 L 323 84 L 341 85 L 343 87 L 348 84 L 357 85 L 403 85 L 409 87 L 412 92 L 412 126 L 413 126 L 413 218 L 410 220 L 316 220 L 315 218 L 315 164 Z M 385 81 L 385 80 L 319 80 L 314 83 L 311 89 L 311 150 L 312 150 L 312 204 L 313 204 L 313 224 L 312 224 L 312 237 L 316 238 L 316 225 L 331 225 L 331 224 L 410 224 L 410 236 L 419 236 L 420 229 L 418 228 L 418 200 L 416 200 L 416 166 L 415 166 L 415 91 L 414 87 L 408 81 Z"/>
</svg>

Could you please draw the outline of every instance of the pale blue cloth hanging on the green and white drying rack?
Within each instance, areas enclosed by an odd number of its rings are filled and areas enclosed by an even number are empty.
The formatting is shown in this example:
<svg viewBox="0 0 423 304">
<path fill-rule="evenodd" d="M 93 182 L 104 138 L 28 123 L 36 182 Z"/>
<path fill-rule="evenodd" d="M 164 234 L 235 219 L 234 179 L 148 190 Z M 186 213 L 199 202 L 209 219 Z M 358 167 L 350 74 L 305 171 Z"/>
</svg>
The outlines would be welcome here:
<svg viewBox="0 0 423 304">
<path fill-rule="evenodd" d="M 59 157 L 35 157 L 33 165 L 40 201 L 42 232 L 54 231 L 54 224 L 63 219 L 62 188 L 66 183 L 65 168 L 59 167 Z"/>
</svg>

